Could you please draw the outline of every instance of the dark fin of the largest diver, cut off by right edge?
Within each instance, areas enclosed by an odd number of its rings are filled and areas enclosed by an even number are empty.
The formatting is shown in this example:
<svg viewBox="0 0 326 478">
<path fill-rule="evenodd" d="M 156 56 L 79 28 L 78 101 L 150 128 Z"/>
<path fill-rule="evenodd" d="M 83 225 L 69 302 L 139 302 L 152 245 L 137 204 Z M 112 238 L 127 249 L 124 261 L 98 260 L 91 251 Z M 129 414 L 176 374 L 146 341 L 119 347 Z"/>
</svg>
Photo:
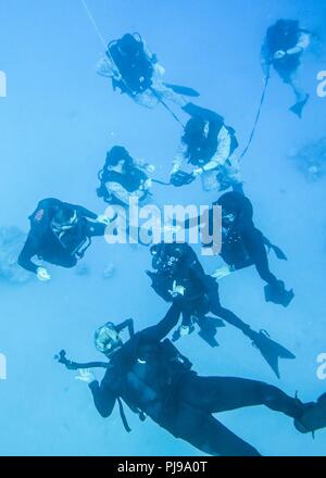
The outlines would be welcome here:
<svg viewBox="0 0 326 478">
<path fill-rule="evenodd" d="M 301 433 L 314 432 L 326 428 L 326 393 L 321 395 L 315 403 L 306 406 L 301 418 L 294 419 L 294 427 Z"/>
</svg>

